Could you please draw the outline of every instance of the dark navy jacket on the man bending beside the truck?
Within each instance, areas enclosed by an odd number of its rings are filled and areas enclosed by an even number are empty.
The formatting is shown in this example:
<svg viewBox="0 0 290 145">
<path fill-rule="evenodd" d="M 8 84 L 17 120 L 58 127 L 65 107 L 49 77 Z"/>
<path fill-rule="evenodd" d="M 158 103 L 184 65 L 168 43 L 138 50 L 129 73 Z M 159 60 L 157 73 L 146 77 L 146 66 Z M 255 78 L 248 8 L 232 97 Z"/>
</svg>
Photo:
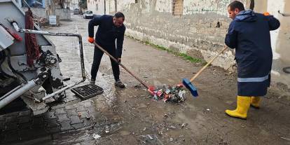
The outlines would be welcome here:
<svg viewBox="0 0 290 145">
<path fill-rule="evenodd" d="M 117 39 L 117 51 L 116 57 L 120 58 L 122 55 L 123 41 L 125 34 L 125 25 L 116 27 L 113 25 L 112 15 L 95 16 L 88 23 L 88 35 L 94 37 L 94 27 L 99 26 L 95 36 L 95 41 L 104 49 L 116 49 Z"/>
</svg>

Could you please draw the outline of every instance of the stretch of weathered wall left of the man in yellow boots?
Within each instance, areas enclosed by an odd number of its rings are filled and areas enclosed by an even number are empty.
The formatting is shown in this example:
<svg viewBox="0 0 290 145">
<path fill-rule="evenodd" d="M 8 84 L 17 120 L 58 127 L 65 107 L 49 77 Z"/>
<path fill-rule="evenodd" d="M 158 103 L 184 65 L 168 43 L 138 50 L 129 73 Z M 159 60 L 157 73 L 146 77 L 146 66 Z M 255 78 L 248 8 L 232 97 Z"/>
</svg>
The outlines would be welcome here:
<svg viewBox="0 0 290 145">
<path fill-rule="evenodd" d="M 172 15 L 172 0 L 139 0 L 137 4 L 124 0 L 118 1 L 118 11 L 125 13 L 127 35 L 208 61 L 223 48 L 229 3 L 184 0 L 184 15 Z M 221 27 L 216 27 L 217 22 Z M 233 58 L 234 52 L 228 50 L 214 65 L 228 69 L 235 63 Z"/>
</svg>

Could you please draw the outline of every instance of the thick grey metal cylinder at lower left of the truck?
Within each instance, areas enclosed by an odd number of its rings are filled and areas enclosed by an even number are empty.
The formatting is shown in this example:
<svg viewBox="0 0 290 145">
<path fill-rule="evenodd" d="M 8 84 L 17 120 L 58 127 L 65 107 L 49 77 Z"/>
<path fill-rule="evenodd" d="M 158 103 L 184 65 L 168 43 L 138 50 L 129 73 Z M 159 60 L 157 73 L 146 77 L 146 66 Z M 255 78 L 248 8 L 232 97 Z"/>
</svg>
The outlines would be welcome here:
<svg viewBox="0 0 290 145">
<path fill-rule="evenodd" d="M 27 92 L 27 90 L 34 88 L 38 84 L 37 83 L 38 81 L 39 81 L 39 78 L 37 78 L 36 80 L 28 81 L 27 83 L 23 84 L 21 88 L 11 93 L 11 95 L 8 95 L 4 99 L 2 99 L 0 101 L 0 109 L 6 106 L 7 104 L 9 104 L 10 102 L 13 102 L 14 99 L 17 99 L 18 97 L 20 97 L 20 95 Z"/>
</svg>

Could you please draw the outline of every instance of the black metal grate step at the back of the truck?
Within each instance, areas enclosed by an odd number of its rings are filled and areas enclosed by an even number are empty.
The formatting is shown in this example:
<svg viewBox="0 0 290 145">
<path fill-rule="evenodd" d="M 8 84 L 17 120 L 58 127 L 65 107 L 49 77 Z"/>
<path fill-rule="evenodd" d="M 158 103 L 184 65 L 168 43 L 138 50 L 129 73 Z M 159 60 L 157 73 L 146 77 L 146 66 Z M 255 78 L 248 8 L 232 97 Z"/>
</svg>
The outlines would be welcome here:
<svg viewBox="0 0 290 145">
<path fill-rule="evenodd" d="M 104 92 L 104 90 L 103 88 L 100 88 L 97 85 L 88 84 L 77 88 L 72 88 L 71 92 L 74 92 L 74 94 L 76 94 L 77 97 L 84 100 L 90 99 L 91 97 L 95 97 L 97 95 L 101 95 Z"/>
</svg>

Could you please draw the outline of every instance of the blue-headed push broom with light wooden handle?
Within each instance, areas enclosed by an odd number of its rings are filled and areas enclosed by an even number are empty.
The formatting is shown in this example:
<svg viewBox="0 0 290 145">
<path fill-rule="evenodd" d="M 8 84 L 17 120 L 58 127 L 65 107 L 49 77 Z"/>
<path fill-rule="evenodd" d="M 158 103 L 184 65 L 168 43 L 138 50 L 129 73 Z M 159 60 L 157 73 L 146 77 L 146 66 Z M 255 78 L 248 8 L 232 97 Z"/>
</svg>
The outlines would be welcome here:
<svg viewBox="0 0 290 145">
<path fill-rule="evenodd" d="M 221 53 L 223 53 L 226 50 L 227 47 L 223 48 L 223 50 L 221 50 L 221 52 L 219 52 L 218 55 L 216 55 L 212 60 L 210 60 L 209 62 L 207 62 L 207 64 L 205 64 L 204 67 L 202 67 L 202 69 L 200 69 L 198 71 L 198 73 L 196 73 L 191 80 L 188 80 L 187 78 L 183 78 L 182 79 L 182 83 L 183 85 L 189 90 L 191 91 L 191 95 L 193 95 L 194 97 L 198 97 L 198 90 L 195 88 L 195 85 L 193 85 L 193 81 L 195 80 L 195 78 L 197 78 L 203 70 L 205 70 L 209 64 L 211 64 L 214 60 L 216 60 L 217 57 L 219 57 L 219 55 L 221 55 Z"/>
</svg>

